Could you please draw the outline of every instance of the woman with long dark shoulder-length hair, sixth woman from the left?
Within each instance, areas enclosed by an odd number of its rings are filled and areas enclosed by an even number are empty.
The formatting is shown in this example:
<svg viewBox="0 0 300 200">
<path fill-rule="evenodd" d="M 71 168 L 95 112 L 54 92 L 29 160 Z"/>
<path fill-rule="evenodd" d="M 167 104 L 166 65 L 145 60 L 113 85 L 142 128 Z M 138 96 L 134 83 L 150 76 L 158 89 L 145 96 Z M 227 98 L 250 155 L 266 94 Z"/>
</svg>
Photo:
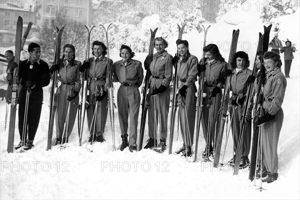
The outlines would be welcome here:
<svg viewBox="0 0 300 200">
<path fill-rule="evenodd" d="M 202 129 L 206 143 L 205 150 L 202 153 L 203 158 L 213 155 L 213 145 L 216 143 L 218 127 L 218 111 L 221 107 L 221 88 L 223 88 L 224 81 L 221 75 L 227 70 L 228 64 L 221 56 L 215 44 L 209 44 L 203 48 L 205 53 L 204 65 L 199 65 L 199 72 L 204 72 L 205 82 L 204 90 L 207 96 L 203 98 L 203 113 L 201 116 Z M 201 63 L 202 61 L 200 61 Z M 211 116 L 209 119 L 209 110 L 211 109 Z M 210 123 L 208 124 L 208 121 Z M 208 133 L 208 126 L 210 131 Z M 209 138 L 209 141 L 207 141 Z M 213 155 L 214 156 L 214 155 Z"/>
</svg>

